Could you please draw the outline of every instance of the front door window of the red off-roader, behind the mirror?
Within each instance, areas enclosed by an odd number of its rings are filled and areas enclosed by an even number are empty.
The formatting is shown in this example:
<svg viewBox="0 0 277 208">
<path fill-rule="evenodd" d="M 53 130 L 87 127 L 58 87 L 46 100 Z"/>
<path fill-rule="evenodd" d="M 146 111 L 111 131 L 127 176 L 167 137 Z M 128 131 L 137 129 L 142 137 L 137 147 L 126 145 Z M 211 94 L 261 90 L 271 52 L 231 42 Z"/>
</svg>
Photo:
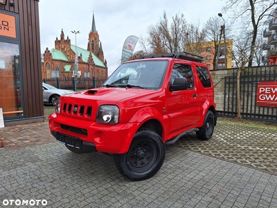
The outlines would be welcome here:
<svg viewBox="0 0 277 208">
<path fill-rule="evenodd" d="M 170 78 L 171 85 L 173 85 L 175 78 L 186 78 L 188 89 L 192 89 L 194 87 L 193 69 L 190 67 L 190 65 L 175 64 Z"/>
</svg>

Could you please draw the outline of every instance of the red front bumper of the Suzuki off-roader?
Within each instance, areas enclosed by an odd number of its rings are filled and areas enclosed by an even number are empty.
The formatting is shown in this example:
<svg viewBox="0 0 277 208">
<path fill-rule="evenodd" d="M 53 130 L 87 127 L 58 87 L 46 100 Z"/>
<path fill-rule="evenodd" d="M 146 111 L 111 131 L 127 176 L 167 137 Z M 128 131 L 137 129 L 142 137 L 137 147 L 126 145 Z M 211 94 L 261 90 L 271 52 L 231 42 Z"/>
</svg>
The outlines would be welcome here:
<svg viewBox="0 0 277 208">
<path fill-rule="evenodd" d="M 48 118 L 48 125 L 51 134 L 58 141 L 61 141 L 61 137 L 65 135 L 68 141 L 68 138 L 73 141 L 80 139 L 81 145 L 78 148 L 82 150 L 123 154 L 129 150 L 129 145 L 140 123 L 100 125 L 95 121 L 75 119 L 53 113 Z M 60 138 L 59 134 L 62 135 Z"/>
</svg>

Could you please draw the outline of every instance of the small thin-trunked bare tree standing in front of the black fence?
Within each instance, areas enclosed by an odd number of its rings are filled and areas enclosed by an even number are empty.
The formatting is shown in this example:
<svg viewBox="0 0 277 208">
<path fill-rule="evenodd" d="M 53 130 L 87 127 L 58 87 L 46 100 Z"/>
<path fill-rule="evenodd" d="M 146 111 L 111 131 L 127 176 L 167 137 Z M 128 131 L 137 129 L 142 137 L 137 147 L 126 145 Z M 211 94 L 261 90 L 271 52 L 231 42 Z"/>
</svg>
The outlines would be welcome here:
<svg viewBox="0 0 277 208">
<path fill-rule="evenodd" d="M 233 41 L 234 51 L 232 53 L 233 60 L 238 67 L 237 73 L 237 119 L 242 119 L 241 116 L 241 99 L 240 99 L 240 75 L 244 71 L 249 61 L 253 59 L 251 55 L 251 35 L 235 37 Z"/>
</svg>

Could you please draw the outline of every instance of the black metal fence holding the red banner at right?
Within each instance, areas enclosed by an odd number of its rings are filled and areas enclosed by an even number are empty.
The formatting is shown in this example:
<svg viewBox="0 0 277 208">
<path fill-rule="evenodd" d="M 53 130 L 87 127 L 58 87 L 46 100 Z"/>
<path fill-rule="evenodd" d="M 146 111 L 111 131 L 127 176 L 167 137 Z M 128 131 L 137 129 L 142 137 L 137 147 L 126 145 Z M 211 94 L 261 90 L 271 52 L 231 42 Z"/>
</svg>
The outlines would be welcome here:
<svg viewBox="0 0 277 208">
<path fill-rule="evenodd" d="M 233 76 L 224 77 L 223 110 L 219 116 L 235 118 L 237 116 L 237 71 Z M 240 99 L 242 119 L 269 121 L 277 123 L 277 107 L 257 105 L 257 86 L 260 81 L 276 81 L 277 69 L 274 67 L 251 67 L 245 69 L 240 77 Z M 216 85 L 216 84 L 215 84 Z"/>
</svg>

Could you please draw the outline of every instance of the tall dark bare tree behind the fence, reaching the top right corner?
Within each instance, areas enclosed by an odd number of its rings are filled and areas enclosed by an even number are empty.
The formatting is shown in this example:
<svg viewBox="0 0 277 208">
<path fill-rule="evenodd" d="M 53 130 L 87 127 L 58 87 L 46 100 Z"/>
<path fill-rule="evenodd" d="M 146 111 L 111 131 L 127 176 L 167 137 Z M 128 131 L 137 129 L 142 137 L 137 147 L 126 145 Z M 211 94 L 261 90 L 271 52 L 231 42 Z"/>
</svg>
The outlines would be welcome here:
<svg viewBox="0 0 277 208">
<path fill-rule="evenodd" d="M 249 67 L 253 63 L 253 54 L 255 53 L 256 39 L 258 35 L 258 27 L 262 24 L 262 20 L 272 15 L 276 9 L 275 0 L 257 1 L 257 0 L 226 0 L 224 10 L 233 12 L 233 19 L 241 19 L 245 28 L 252 26 L 251 48 L 249 53 Z"/>
</svg>

